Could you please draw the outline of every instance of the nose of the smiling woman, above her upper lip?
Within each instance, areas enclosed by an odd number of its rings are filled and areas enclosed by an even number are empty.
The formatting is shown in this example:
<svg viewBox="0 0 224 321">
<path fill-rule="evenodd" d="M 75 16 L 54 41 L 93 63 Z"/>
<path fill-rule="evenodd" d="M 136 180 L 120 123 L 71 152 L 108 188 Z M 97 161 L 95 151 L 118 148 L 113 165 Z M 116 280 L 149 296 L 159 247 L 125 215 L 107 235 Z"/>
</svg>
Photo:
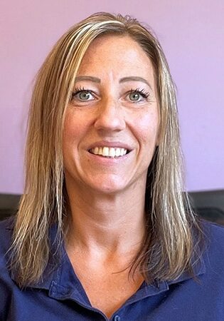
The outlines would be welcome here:
<svg viewBox="0 0 224 321">
<path fill-rule="evenodd" d="M 101 106 L 97 109 L 95 120 L 97 131 L 122 131 L 125 127 L 124 110 L 119 101 L 113 98 L 102 101 Z"/>
</svg>

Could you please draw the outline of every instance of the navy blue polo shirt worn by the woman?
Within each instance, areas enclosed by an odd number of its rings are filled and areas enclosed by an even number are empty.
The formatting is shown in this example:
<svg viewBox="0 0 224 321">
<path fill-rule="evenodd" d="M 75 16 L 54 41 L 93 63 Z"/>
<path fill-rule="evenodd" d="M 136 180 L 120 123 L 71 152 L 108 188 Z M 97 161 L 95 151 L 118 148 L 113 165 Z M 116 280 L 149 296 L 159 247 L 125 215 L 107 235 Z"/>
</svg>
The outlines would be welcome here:
<svg viewBox="0 0 224 321">
<path fill-rule="evenodd" d="M 0 320 L 1 321 L 105 321 L 92 307 L 68 255 L 43 282 L 21 290 L 6 269 L 6 250 L 12 221 L 0 223 Z M 177 280 L 146 285 L 119 308 L 114 321 L 223 321 L 224 320 L 224 228 L 204 224 L 206 248 L 194 267 L 197 280 L 183 273 Z M 99 285 L 100 286 L 100 285 Z"/>
</svg>

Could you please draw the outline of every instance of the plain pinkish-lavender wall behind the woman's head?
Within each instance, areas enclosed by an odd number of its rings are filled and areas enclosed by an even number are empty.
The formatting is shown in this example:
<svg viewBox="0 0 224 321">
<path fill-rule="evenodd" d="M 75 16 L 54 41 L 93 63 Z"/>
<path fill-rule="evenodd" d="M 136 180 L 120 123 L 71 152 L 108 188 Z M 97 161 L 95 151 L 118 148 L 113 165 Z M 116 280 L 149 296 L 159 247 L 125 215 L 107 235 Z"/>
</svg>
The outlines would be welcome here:
<svg viewBox="0 0 224 321">
<path fill-rule="evenodd" d="M 96 11 L 130 14 L 159 37 L 178 88 L 188 190 L 224 188 L 223 0 L 1 1 L 0 193 L 22 193 L 32 80 L 58 37 Z"/>
</svg>

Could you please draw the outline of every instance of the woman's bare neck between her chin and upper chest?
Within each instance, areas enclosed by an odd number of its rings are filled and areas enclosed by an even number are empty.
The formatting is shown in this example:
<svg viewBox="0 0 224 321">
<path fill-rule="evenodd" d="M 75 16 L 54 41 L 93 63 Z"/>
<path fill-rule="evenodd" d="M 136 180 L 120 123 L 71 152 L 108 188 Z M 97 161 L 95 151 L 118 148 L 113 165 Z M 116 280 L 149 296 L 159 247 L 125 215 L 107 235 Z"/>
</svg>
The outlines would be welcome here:
<svg viewBox="0 0 224 321">
<path fill-rule="evenodd" d="M 145 185 L 144 185 L 145 186 Z M 144 194 L 100 194 L 66 184 L 70 203 L 67 247 L 105 258 L 137 253 L 145 234 Z"/>
</svg>

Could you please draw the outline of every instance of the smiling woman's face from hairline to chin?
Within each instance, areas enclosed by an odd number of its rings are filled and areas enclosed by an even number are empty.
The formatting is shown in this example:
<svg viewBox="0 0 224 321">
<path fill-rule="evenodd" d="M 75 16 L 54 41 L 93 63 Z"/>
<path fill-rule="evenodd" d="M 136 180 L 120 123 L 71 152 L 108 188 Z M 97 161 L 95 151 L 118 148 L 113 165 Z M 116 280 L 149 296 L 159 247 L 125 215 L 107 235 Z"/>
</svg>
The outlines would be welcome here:
<svg viewBox="0 0 224 321">
<path fill-rule="evenodd" d="M 101 36 L 82 59 L 65 113 L 66 184 L 120 193 L 146 184 L 159 136 L 154 70 L 129 36 Z"/>
</svg>

